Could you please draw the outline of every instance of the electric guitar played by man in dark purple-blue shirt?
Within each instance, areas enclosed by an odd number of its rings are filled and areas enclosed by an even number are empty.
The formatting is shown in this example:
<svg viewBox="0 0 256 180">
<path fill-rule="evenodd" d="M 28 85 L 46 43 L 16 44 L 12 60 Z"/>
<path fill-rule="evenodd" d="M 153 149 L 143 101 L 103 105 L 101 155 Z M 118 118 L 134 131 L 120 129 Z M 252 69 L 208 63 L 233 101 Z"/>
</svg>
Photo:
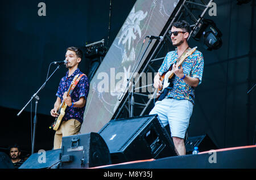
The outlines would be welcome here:
<svg viewBox="0 0 256 180">
<path fill-rule="evenodd" d="M 75 78 L 72 80 L 72 83 L 69 85 L 67 96 L 71 95 L 73 89 L 76 87 L 75 81 L 76 81 L 78 76 L 79 76 L 79 74 L 77 74 L 75 76 Z M 58 128 L 60 126 L 60 123 L 61 123 L 61 120 L 65 115 L 66 108 L 67 108 L 67 104 L 65 104 L 65 101 L 62 101 L 61 104 L 60 104 L 60 108 L 57 112 L 59 115 L 58 115 L 58 117 L 55 118 L 55 121 L 52 123 L 52 125 L 49 128 L 53 128 L 53 130 L 55 130 L 55 131 L 58 130 Z"/>
</svg>

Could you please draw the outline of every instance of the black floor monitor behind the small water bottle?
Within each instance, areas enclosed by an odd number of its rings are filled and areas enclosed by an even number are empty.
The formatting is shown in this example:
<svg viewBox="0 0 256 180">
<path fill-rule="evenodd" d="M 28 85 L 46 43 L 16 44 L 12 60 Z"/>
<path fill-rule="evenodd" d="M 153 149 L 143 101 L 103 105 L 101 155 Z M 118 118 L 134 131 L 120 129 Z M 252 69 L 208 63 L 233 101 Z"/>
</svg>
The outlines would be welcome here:
<svg viewBox="0 0 256 180">
<path fill-rule="evenodd" d="M 198 147 L 199 152 L 218 149 L 208 135 L 189 137 L 185 142 L 186 153 L 191 154 L 194 147 Z"/>
</svg>

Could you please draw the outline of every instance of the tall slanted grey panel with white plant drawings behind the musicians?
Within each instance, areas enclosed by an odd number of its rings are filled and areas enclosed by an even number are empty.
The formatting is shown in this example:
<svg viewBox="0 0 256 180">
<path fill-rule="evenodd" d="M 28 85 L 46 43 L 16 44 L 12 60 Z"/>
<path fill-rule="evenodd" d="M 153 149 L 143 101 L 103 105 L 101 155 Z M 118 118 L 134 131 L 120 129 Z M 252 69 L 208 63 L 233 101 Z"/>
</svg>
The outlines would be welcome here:
<svg viewBox="0 0 256 180">
<path fill-rule="evenodd" d="M 134 4 L 90 82 L 81 133 L 98 132 L 113 117 L 127 87 L 127 79 L 132 72 L 138 71 L 152 46 L 158 43 L 152 40 L 135 70 L 148 43 L 146 38 L 141 49 L 144 38 L 160 35 L 178 2 L 138 0 Z"/>
</svg>

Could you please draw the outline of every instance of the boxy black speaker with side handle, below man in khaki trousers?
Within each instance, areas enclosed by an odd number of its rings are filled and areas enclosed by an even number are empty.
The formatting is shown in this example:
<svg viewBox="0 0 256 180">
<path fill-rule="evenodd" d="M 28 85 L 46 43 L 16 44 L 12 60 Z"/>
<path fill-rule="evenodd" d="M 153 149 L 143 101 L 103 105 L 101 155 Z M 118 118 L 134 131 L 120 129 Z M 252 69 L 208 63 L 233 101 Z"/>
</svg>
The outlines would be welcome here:
<svg viewBox="0 0 256 180">
<path fill-rule="evenodd" d="M 109 148 L 96 132 L 62 138 L 60 169 L 92 168 L 111 164 Z"/>
</svg>

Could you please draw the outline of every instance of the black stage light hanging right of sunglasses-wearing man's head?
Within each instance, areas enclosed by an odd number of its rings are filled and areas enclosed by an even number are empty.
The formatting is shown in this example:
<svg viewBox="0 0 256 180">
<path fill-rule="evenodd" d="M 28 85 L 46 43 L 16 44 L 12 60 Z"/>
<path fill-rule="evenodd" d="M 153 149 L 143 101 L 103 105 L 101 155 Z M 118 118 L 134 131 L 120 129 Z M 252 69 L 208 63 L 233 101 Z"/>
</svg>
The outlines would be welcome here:
<svg viewBox="0 0 256 180">
<path fill-rule="evenodd" d="M 216 27 L 213 20 L 201 19 L 191 33 L 196 41 L 201 41 L 207 50 L 219 49 L 222 45 L 221 31 Z"/>
</svg>

